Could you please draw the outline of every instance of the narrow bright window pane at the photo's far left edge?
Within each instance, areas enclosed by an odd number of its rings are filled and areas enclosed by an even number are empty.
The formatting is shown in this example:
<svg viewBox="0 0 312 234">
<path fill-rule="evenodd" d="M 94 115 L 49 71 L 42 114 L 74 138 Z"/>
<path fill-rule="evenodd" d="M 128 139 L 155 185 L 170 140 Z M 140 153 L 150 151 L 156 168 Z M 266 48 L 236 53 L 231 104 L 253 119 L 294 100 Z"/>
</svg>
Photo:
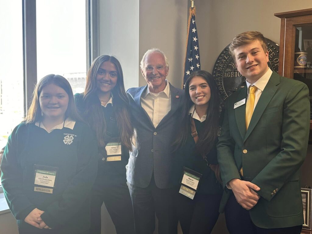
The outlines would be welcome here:
<svg viewBox="0 0 312 234">
<path fill-rule="evenodd" d="M 24 117 L 22 4 L 0 2 L 0 149 Z M 4 36 L 5 35 L 5 36 Z"/>
</svg>

